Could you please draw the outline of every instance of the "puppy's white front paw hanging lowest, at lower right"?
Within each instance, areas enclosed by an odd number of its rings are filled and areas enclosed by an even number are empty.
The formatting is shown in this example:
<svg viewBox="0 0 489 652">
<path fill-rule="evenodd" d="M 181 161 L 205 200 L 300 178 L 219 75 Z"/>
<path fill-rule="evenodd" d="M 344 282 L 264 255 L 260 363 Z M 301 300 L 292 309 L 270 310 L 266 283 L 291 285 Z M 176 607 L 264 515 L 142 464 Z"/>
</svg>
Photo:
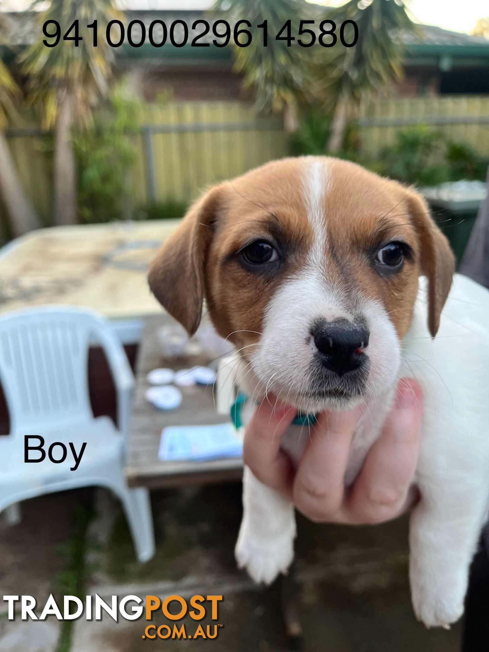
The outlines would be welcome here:
<svg viewBox="0 0 489 652">
<path fill-rule="evenodd" d="M 442 579 L 442 578 L 439 578 Z M 413 582 L 411 594 L 416 617 L 426 627 L 443 627 L 458 621 L 464 613 L 466 583 L 457 582 L 453 576 L 446 578 L 452 582 Z"/>
</svg>

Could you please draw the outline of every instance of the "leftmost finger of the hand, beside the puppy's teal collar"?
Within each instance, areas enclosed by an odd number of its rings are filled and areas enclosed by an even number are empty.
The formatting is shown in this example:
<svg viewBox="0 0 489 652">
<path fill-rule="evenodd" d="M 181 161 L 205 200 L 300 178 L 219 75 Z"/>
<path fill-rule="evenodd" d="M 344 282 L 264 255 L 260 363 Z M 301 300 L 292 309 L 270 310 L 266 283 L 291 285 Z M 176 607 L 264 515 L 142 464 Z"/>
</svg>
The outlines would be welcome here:
<svg viewBox="0 0 489 652">
<path fill-rule="evenodd" d="M 294 408 L 269 395 L 256 409 L 243 442 L 244 464 L 255 477 L 288 495 L 293 468 L 288 455 L 280 449 L 280 443 L 294 415 Z"/>
</svg>

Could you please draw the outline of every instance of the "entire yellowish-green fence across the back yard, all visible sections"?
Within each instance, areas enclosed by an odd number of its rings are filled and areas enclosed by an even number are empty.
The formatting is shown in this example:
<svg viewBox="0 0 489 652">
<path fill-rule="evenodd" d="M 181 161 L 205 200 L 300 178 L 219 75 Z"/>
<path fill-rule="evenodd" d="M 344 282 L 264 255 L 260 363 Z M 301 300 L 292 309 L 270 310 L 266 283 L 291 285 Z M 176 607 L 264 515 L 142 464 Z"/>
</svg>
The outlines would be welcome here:
<svg viewBox="0 0 489 652">
<path fill-rule="evenodd" d="M 387 98 L 366 104 L 359 116 L 364 155 L 378 155 L 398 130 L 421 123 L 489 156 L 489 96 Z M 7 135 L 25 190 L 49 224 L 52 136 L 33 125 Z M 169 199 L 188 202 L 201 188 L 281 158 L 288 150 L 282 121 L 257 117 L 243 102 L 149 104 L 133 142 L 136 163 L 130 183 L 136 207 Z"/>
</svg>

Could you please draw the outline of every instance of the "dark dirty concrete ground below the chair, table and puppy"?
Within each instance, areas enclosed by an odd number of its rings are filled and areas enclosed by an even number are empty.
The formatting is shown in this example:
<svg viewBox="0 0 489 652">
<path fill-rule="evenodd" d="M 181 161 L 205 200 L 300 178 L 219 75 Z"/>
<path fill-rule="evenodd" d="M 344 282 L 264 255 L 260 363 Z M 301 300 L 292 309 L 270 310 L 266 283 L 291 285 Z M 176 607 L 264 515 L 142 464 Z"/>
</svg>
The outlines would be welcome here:
<svg viewBox="0 0 489 652">
<path fill-rule="evenodd" d="M 460 627 L 426 630 L 409 602 L 407 522 L 376 527 L 318 526 L 299 518 L 297 559 L 280 587 L 255 587 L 233 560 L 241 516 L 237 484 L 153 492 L 156 556 L 136 563 L 119 505 L 98 492 L 98 515 L 89 525 L 85 567 L 78 579 L 87 593 L 110 595 L 223 595 L 215 640 L 148 642 L 143 619 L 115 623 L 79 619 L 72 632 L 57 621 L 8 621 L 0 615 L 2 652 L 142 652 L 190 647 L 195 652 L 279 652 L 291 644 L 281 600 L 297 610 L 304 652 L 458 652 Z M 23 506 L 22 524 L 0 524 L 2 595 L 33 595 L 44 602 L 74 586 L 73 550 L 80 531 L 80 501 L 71 492 Z M 77 520 L 78 519 L 78 520 Z M 75 569 L 75 571 L 74 571 Z M 63 588 L 65 587 L 65 588 Z M 195 621 L 185 619 L 187 631 Z M 155 624 L 168 623 L 163 615 Z M 204 620 L 203 625 L 211 621 Z M 179 624 L 181 624 L 179 622 Z M 205 630 L 205 626 L 203 628 Z M 70 645 L 67 641 L 70 640 Z M 297 644 L 297 641 L 295 641 Z M 153 645 L 153 648 L 151 648 Z"/>
</svg>

